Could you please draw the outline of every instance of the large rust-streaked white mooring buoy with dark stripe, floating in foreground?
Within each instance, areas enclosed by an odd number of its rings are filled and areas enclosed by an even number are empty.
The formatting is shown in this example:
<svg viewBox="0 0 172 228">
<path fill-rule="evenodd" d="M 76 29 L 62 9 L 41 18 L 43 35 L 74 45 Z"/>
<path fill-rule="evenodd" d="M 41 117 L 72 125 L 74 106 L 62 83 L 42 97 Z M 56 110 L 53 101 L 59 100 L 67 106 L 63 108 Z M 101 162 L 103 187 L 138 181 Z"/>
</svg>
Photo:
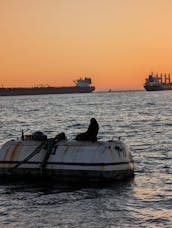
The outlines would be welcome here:
<svg viewBox="0 0 172 228">
<path fill-rule="evenodd" d="M 106 181 L 133 175 L 131 150 L 120 140 L 56 142 L 27 136 L 0 149 L 0 176 Z"/>
</svg>

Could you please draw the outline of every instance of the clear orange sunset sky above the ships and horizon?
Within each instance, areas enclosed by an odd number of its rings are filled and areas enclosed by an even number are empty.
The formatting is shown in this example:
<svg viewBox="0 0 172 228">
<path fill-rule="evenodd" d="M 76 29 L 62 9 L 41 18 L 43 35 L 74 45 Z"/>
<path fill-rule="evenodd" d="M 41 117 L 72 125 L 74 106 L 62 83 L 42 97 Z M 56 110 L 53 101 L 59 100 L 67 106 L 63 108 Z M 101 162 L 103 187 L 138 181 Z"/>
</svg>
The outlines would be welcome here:
<svg viewBox="0 0 172 228">
<path fill-rule="evenodd" d="M 0 84 L 142 89 L 172 73 L 172 0 L 0 0 Z"/>
</svg>

